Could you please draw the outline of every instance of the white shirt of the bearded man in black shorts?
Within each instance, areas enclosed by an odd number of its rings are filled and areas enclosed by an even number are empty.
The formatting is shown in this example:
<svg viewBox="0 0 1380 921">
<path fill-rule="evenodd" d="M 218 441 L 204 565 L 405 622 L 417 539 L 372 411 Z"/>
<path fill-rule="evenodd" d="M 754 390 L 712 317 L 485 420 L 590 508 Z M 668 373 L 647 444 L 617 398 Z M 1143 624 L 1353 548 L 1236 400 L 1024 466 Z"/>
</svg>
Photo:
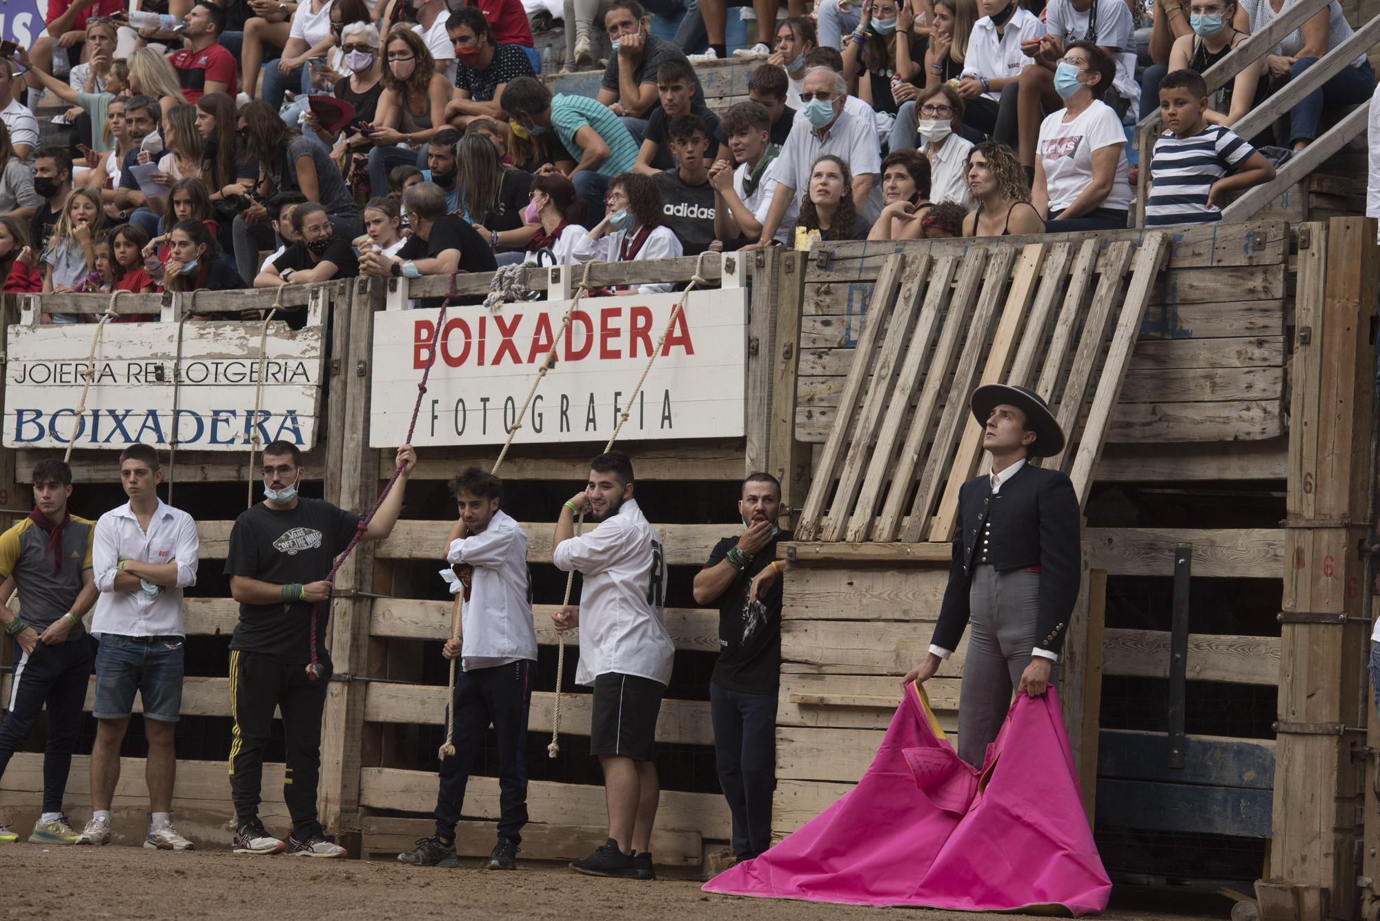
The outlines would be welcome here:
<svg viewBox="0 0 1380 921">
<path fill-rule="evenodd" d="M 562 572 L 584 575 L 575 681 L 593 684 L 615 671 L 669 684 L 676 648 L 661 612 L 667 558 L 638 502 L 628 499 L 598 528 L 558 546 L 551 560 Z"/>
</svg>

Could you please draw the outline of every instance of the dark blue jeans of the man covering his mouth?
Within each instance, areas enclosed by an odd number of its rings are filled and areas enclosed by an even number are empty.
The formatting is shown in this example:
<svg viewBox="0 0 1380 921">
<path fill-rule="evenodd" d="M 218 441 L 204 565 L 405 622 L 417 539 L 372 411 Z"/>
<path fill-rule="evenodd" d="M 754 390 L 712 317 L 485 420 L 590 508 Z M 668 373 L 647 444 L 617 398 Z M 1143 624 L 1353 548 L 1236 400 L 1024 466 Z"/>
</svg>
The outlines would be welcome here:
<svg viewBox="0 0 1380 921">
<path fill-rule="evenodd" d="M 749 860 L 771 844 L 776 709 L 774 694 L 745 694 L 709 682 L 713 760 L 733 815 L 733 853 L 738 860 Z"/>
</svg>

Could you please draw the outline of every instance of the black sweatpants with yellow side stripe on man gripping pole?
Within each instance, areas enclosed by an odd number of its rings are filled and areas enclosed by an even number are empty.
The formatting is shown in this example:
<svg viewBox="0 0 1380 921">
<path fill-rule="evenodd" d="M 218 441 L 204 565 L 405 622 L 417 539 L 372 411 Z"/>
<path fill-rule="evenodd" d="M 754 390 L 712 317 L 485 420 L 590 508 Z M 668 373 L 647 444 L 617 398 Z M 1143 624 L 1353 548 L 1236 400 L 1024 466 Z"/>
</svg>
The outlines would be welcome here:
<svg viewBox="0 0 1380 921">
<path fill-rule="evenodd" d="M 273 709 L 283 711 L 287 769 L 283 801 L 293 816 L 293 837 L 306 841 L 320 834 L 316 785 L 322 773 L 322 716 L 330 659 L 322 676 L 306 677 L 306 665 L 287 665 L 259 652 L 230 649 L 230 798 L 239 824 L 258 818 L 264 785 L 264 749 L 273 731 Z"/>
</svg>

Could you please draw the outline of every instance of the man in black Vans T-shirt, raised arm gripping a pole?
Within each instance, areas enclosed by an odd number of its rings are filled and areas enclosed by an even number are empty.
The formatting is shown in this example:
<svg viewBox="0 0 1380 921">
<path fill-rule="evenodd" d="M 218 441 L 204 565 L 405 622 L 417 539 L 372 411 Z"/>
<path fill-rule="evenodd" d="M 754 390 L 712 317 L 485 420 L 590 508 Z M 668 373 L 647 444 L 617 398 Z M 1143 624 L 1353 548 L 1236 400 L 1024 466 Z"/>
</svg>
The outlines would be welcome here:
<svg viewBox="0 0 1380 921">
<path fill-rule="evenodd" d="M 392 534 L 415 463 L 411 445 L 397 449 L 397 483 L 360 534 L 362 540 L 382 540 Z M 324 645 L 331 600 L 326 576 L 362 518 L 298 495 L 306 469 L 302 452 L 290 441 L 264 448 L 262 473 L 264 502 L 235 520 L 225 558 L 230 596 L 240 603 L 240 620 L 230 640 L 230 798 L 239 827 L 235 853 L 286 849 L 293 856 L 341 858 L 345 848 L 322 833 L 316 816 L 322 716 L 331 677 Z M 308 674 L 313 658 L 320 665 L 316 677 Z M 269 836 L 258 818 L 264 749 L 272 736 L 275 709 L 283 714 L 287 750 L 283 800 L 293 818 L 293 834 L 286 844 Z"/>
</svg>

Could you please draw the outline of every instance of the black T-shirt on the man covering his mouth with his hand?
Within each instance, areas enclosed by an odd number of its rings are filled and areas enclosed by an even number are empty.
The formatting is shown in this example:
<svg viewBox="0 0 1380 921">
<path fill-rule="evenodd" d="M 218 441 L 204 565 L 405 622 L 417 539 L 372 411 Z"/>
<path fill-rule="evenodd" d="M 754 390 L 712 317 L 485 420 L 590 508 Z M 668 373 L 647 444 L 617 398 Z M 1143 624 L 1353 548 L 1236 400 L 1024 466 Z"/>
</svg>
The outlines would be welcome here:
<svg viewBox="0 0 1380 921">
<path fill-rule="evenodd" d="M 727 557 L 729 550 L 738 546 L 740 536 L 723 538 L 713 545 L 705 568 Z M 776 558 L 777 542 L 792 539 L 789 531 L 771 538 L 719 596 L 719 659 L 713 663 L 712 681 L 720 688 L 774 695 L 781 684 L 781 579 L 759 598 L 766 608 L 763 622 L 747 622 L 744 607 L 752 578 Z M 748 636 L 744 637 L 744 633 Z"/>
</svg>

